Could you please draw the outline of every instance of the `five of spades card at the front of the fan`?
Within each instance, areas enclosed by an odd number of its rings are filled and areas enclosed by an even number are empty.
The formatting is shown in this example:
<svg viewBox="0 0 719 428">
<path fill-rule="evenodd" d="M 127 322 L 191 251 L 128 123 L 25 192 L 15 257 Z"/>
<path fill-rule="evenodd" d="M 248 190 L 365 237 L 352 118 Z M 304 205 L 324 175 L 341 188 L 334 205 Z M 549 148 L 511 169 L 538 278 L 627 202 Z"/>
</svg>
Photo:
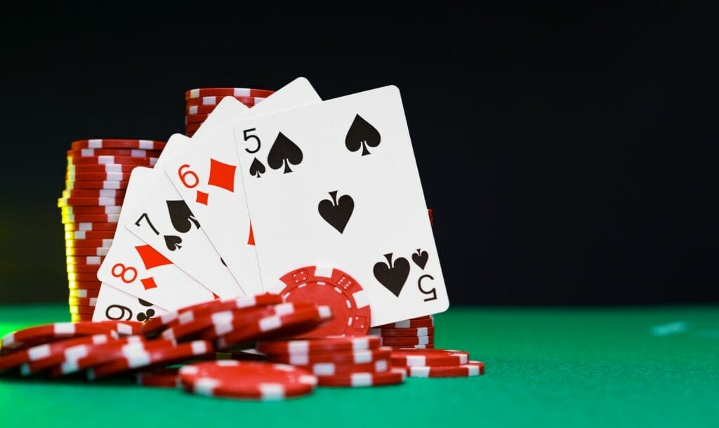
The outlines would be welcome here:
<svg viewBox="0 0 719 428">
<path fill-rule="evenodd" d="M 234 124 L 268 292 L 303 266 L 340 269 L 372 325 L 449 307 L 400 93 L 393 86 Z M 252 131 L 248 131 L 252 130 Z"/>
</svg>

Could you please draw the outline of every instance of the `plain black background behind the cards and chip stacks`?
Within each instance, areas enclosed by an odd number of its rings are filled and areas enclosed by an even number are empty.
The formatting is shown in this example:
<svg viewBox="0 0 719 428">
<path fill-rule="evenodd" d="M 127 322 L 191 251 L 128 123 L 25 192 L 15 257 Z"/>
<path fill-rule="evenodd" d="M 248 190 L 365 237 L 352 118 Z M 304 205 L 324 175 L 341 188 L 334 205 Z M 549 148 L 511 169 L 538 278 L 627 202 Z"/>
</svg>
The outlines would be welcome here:
<svg viewBox="0 0 719 428">
<path fill-rule="evenodd" d="M 454 304 L 715 301 L 715 15 L 541 3 L 6 9 L 0 302 L 67 297 L 70 141 L 164 140 L 189 88 L 300 75 L 402 90 Z"/>
</svg>

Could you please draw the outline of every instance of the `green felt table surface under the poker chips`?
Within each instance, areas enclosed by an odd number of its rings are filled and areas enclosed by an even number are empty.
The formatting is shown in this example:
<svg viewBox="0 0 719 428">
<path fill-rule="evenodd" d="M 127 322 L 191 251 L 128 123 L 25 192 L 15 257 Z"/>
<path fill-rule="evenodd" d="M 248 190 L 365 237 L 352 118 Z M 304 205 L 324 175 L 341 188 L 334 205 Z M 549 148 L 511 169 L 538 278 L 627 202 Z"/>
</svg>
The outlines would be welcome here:
<svg viewBox="0 0 719 428">
<path fill-rule="evenodd" d="M 0 307 L 0 335 L 66 320 L 62 305 Z M 436 345 L 477 378 L 320 388 L 234 401 L 116 379 L 0 378 L 2 427 L 718 427 L 719 307 L 453 307 Z"/>
</svg>

